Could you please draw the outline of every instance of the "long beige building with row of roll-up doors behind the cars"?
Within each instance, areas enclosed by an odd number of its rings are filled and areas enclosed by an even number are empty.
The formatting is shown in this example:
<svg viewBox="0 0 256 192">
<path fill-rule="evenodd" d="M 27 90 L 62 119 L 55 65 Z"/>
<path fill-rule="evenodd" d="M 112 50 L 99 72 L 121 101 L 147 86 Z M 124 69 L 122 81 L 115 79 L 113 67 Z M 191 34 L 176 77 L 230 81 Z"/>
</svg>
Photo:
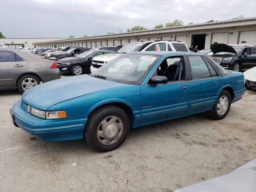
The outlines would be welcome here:
<svg viewBox="0 0 256 192">
<path fill-rule="evenodd" d="M 199 50 L 209 49 L 210 45 L 214 43 L 256 46 L 256 17 L 102 36 L 38 41 L 34 42 L 33 45 L 52 48 L 72 45 L 95 48 L 147 40 L 178 40 L 185 42 L 189 47 L 198 45 Z"/>
</svg>

